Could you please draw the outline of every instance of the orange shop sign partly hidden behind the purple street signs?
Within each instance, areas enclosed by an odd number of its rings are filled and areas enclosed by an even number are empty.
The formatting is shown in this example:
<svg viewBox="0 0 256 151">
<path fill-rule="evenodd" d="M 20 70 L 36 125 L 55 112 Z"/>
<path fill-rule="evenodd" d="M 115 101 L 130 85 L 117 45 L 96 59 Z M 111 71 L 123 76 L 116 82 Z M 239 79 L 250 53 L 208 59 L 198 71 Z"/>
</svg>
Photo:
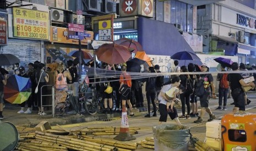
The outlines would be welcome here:
<svg viewBox="0 0 256 151">
<path fill-rule="evenodd" d="M 68 31 L 68 28 L 61 28 L 61 27 L 51 27 L 50 28 L 50 42 L 55 43 L 66 43 L 66 44 L 78 44 L 77 39 L 69 39 L 68 35 L 73 34 L 75 35 L 75 32 L 71 33 Z M 84 31 L 84 36 L 86 39 L 81 40 L 81 44 L 87 45 L 88 40 L 93 40 L 94 33 L 91 31 Z"/>
</svg>

